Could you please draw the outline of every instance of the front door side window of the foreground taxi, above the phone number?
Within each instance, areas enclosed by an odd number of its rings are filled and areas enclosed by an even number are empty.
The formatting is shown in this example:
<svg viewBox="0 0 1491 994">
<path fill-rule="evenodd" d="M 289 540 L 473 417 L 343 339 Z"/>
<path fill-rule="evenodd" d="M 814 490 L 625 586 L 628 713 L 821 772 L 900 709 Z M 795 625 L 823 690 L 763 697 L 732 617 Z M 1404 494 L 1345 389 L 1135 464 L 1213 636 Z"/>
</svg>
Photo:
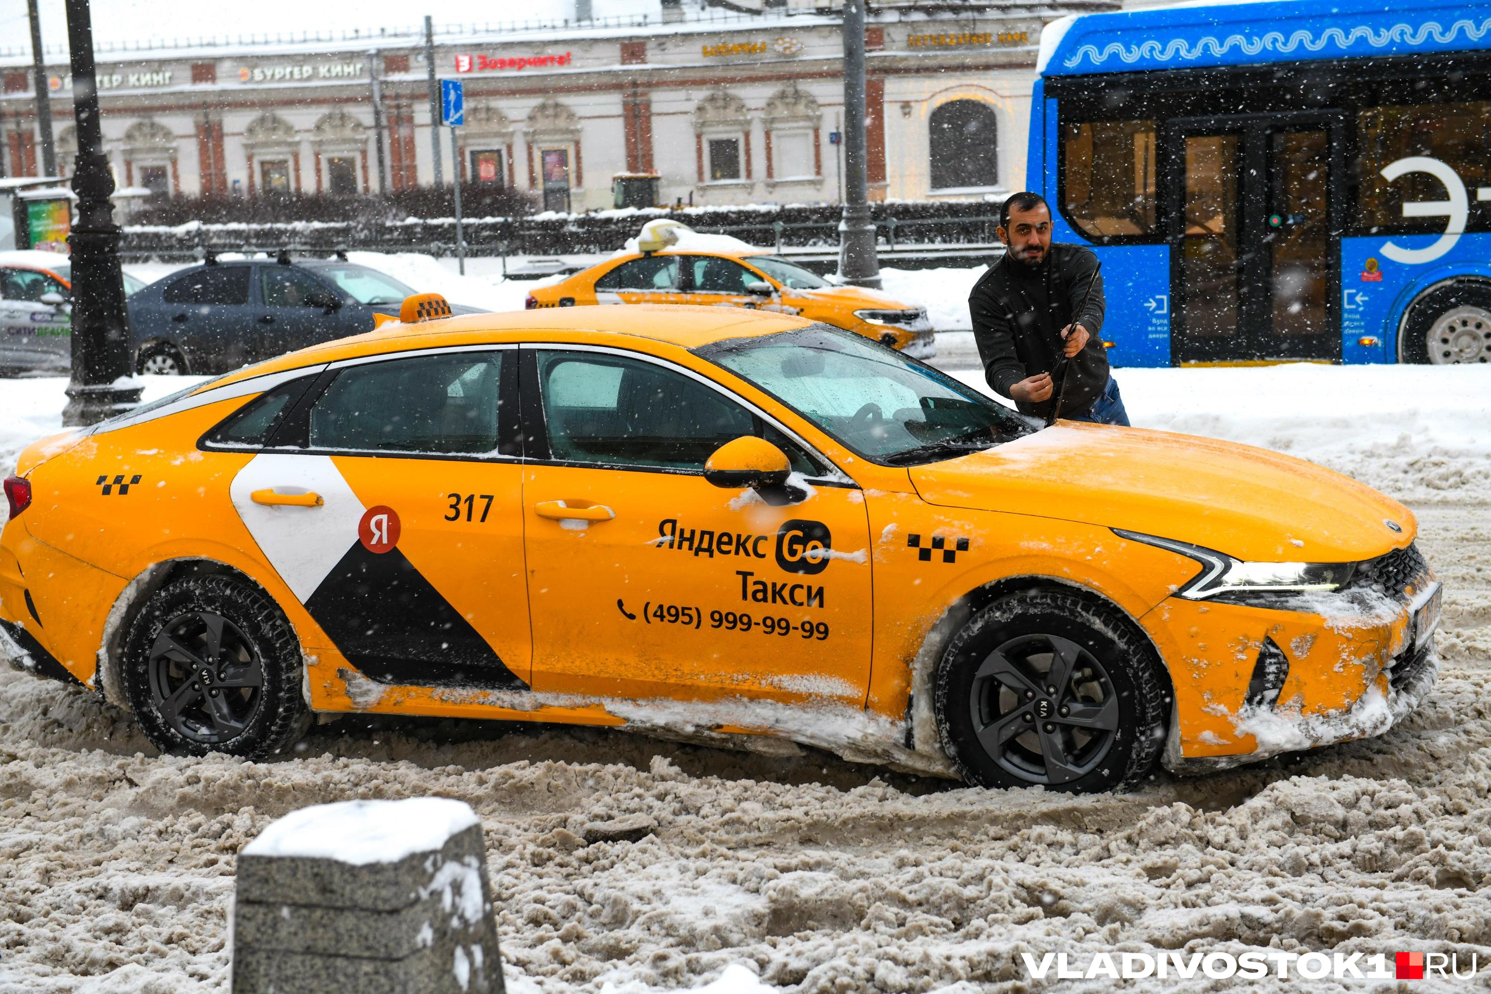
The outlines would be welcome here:
<svg viewBox="0 0 1491 994">
<path fill-rule="evenodd" d="M 816 459 L 743 405 L 652 362 L 540 352 L 538 380 L 550 455 L 562 462 L 699 472 L 725 443 L 759 435 L 780 446 L 799 472 L 822 472 Z"/>
</svg>

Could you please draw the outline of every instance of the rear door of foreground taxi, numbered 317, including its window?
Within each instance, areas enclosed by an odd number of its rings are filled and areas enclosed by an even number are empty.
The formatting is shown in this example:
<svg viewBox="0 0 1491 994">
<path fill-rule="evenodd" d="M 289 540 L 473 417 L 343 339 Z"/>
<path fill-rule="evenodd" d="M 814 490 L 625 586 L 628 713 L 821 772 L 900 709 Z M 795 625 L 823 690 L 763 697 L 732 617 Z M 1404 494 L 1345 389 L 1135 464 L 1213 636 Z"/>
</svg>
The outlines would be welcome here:
<svg viewBox="0 0 1491 994">
<path fill-rule="evenodd" d="M 309 651 L 386 684 L 526 687 L 516 355 L 332 368 L 234 477 L 245 525 L 330 639 Z"/>
</svg>

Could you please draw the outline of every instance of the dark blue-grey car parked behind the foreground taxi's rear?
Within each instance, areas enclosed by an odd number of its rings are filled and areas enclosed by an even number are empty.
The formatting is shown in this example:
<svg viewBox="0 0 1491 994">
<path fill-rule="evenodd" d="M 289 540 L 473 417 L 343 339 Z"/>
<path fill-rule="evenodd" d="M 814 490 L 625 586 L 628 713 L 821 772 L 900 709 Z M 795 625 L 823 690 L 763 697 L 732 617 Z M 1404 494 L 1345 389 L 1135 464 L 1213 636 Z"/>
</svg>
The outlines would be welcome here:
<svg viewBox="0 0 1491 994">
<path fill-rule="evenodd" d="M 139 373 L 227 373 L 286 352 L 373 331 L 414 291 L 341 259 L 207 259 L 130 298 Z M 482 313 L 452 304 L 458 314 Z"/>
</svg>

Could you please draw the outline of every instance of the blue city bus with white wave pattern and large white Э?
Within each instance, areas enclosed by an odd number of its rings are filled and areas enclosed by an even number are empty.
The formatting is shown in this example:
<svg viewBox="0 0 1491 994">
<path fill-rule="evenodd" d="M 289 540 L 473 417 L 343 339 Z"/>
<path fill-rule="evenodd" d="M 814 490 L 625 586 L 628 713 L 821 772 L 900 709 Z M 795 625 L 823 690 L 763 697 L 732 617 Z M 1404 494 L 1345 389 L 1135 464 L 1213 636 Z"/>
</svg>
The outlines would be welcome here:
<svg viewBox="0 0 1491 994">
<path fill-rule="evenodd" d="M 1491 361 L 1491 3 L 1079 15 L 1038 72 L 1114 365 Z"/>
</svg>

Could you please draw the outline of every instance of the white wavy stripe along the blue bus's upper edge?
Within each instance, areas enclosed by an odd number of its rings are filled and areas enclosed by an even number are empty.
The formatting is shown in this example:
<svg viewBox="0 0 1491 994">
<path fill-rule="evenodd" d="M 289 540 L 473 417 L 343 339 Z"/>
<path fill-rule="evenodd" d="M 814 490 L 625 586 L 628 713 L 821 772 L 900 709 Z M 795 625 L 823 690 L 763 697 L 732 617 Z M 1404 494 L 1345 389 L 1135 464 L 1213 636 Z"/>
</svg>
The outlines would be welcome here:
<svg viewBox="0 0 1491 994">
<path fill-rule="evenodd" d="M 1176 58 L 1181 61 L 1194 61 L 1203 54 L 1209 54 L 1212 58 L 1221 58 L 1235 48 L 1241 49 L 1245 55 L 1257 55 L 1264 51 L 1290 55 L 1300 49 L 1320 52 L 1327 45 L 1334 45 L 1337 49 L 1345 51 L 1357 42 L 1366 42 L 1372 48 L 1387 48 L 1394 43 L 1418 46 L 1430 37 L 1433 37 L 1437 45 L 1449 45 L 1461 33 L 1464 33 L 1466 42 L 1479 42 L 1491 34 L 1491 18 L 1481 21 L 1481 24 L 1476 24 L 1475 21 L 1455 21 L 1449 25 L 1448 31 L 1436 21 L 1425 21 L 1416 28 L 1412 24 L 1394 24 L 1393 27 L 1382 28 L 1381 31 L 1367 25 L 1358 25 L 1349 31 L 1342 28 L 1325 28 L 1320 33 L 1320 36 L 1305 30 L 1294 31 L 1287 37 L 1282 31 L 1269 31 L 1261 36 L 1229 34 L 1226 40 L 1217 40 L 1212 36 L 1206 36 L 1199 39 L 1194 45 L 1188 43 L 1185 39 L 1172 39 L 1164 45 L 1159 40 L 1142 42 L 1139 45 L 1121 45 L 1118 42 L 1111 42 L 1102 49 L 1096 45 L 1082 45 L 1074 55 L 1065 60 L 1065 64 L 1068 69 L 1077 69 L 1081 66 L 1084 58 L 1088 58 L 1093 66 L 1102 66 L 1114 57 L 1123 60 L 1126 64 L 1133 64 L 1139 60 L 1150 60 L 1154 63 L 1169 63 Z"/>
</svg>

